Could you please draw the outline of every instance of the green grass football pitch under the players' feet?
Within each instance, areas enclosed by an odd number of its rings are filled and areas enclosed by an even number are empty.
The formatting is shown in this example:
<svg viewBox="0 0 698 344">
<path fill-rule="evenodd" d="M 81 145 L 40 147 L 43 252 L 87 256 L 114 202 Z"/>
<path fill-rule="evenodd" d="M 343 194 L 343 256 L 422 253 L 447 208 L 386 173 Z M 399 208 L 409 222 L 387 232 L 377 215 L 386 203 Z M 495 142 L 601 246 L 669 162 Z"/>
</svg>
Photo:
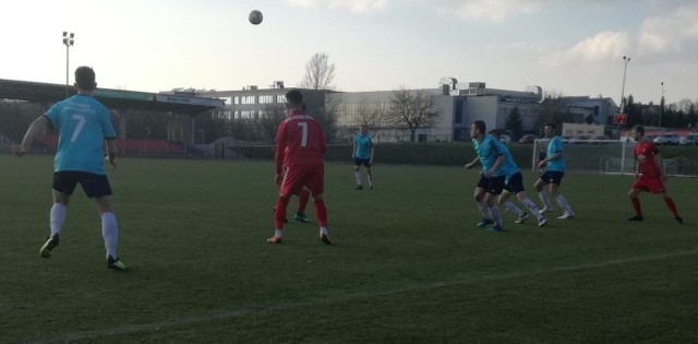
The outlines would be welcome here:
<svg viewBox="0 0 698 344">
<path fill-rule="evenodd" d="M 649 194 L 628 223 L 629 176 L 573 174 L 576 218 L 505 214 L 491 234 L 474 226 L 474 171 L 376 165 L 376 189 L 356 191 L 351 165 L 327 164 L 336 245 L 291 220 L 273 246 L 270 162 L 122 158 L 118 273 L 80 189 L 40 258 L 52 157 L 0 164 L 3 343 L 698 342 L 696 179 L 669 185 L 683 226 Z"/>
</svg>

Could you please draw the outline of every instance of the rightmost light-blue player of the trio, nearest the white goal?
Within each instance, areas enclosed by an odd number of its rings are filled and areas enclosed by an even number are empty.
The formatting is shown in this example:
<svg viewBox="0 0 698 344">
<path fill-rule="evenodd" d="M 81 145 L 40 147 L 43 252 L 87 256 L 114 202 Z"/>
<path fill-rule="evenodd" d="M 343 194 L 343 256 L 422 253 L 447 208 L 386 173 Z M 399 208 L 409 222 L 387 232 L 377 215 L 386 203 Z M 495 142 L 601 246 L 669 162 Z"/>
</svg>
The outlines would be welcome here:
<svg viewBox="0 0 698 344">
<path fill-rule="evenodd" d="M 555 123 L 545 124 L 545 138 L 550 139 L 550 143 L 547 143 L 547 153 L 545 158 L 538 164 L 539 168 L 545 168 L 545 173 L 535 181 L 533 187 L 535 188 L 535 191 L 538 191 L 538 195 L 541 201 L 543 201 L 544 206 L 541 209 L 541 213 L 553 212 L 553 205 L 550 202 L 550 198 L 543 190 L 543 187 L 550 185 L 550 194 L 555 198 L 559 207 L 565 212 L 557 218 L 570 220 L 575 217 L 575 212 L 571 210 L 571 206 L 569 206 L 569 203 L 567 203 L 567 199 L 559 193 L 559 183 L 565 176 L 566 164 L 563 141 L 555 134 L 556 128 Z"/>
</svg>

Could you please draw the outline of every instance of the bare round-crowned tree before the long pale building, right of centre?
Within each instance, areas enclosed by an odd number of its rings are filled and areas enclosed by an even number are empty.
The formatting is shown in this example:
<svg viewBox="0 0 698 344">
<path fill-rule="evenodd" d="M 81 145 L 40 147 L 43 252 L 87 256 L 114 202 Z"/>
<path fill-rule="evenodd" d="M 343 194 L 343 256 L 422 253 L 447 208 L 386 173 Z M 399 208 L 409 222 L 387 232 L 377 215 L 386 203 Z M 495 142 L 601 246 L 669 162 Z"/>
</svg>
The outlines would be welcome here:
<svg viewBox="0 0 698 344">
<path fill-rule="evenodd" d="M 431 106 L 426 91 L 400 86 L 393 92 L 388 120 L 392 124 L 406 126 L 410 130 L 410 142 L 414 142 L 419 128 L 431 126 L 438 115 Z"/>
</svg>

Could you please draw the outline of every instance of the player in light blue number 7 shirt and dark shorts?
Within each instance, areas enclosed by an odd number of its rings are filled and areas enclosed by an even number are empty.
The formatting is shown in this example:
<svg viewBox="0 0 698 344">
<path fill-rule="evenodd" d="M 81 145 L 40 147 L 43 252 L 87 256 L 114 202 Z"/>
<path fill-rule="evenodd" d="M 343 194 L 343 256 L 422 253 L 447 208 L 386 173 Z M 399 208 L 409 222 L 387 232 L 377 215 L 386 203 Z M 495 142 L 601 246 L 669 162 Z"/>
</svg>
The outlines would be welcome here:
<svg viewBox="0 0 698 344">
<path fill-rule="evenodd" d="M 41 246 L 39 254 L 49 258 L 58 246 L 65 221 L 67 206 L 75 187 L 80 183 L 88 198 L 97 204 L 101 218 L 101 235 L 107 250 L 107 268 L 125 270 L 117 254 L 117 218 L 111 209 L 111 187 L 105 173 L 103 143 L 107 143 L 107 157 L 116 168 L 117 138 L 109 110 L 92 95 L 97 83 L 89 67 L 75 70 L 77 95 L 55 104 L 37 118 L 27 130 L 21 145 L 12 152 L 23 156 L 29 152 L 34 139 L 46 127 L 59 128 L 58 150 L 53 161 L 53 205 L 50 212 L 51 234 Z"/>
</svg>

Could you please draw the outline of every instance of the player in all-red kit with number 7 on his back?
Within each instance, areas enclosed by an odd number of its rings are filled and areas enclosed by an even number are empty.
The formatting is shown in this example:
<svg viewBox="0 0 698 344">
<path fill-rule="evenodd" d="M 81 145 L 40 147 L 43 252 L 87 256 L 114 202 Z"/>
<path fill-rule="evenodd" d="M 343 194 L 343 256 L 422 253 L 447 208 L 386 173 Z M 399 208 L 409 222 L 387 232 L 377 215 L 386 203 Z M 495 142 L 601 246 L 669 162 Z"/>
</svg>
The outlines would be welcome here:
<svg viewBox="0 0 698 344">
<path fill-rule="evenodd" d="M 327 209 L 323 200 L 323 154 L 327 151 L 325 135 L 320 123 L 303 110 L 303 95 L 300 91 L 291 90 L 286 93 L 286 108 L 288 118 L 281 122 L 276 133 L 275 182 L 279 186 L 279 198 L 274 211 L 276 230 L 267 242 L 281 242 L 288 200 L 305 187 L 313 197 L 320 239 L 332 245 L 327 235 Z"/>
</svg>

